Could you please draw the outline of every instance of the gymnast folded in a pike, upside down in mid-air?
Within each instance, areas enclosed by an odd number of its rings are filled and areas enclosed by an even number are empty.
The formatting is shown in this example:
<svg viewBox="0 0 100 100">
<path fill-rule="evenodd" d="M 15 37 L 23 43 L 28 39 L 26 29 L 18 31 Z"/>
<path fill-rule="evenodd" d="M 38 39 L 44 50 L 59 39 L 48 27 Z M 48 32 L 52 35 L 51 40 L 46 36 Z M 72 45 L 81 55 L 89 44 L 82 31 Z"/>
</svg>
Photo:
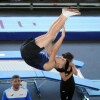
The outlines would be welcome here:
<svg viewBox="0 0 100 100">
<path fill-rule="evenodd" d="M 51 25 L 46 34 L 36 38 L 29 38 L 21 45 L 21 56 L 28 65 L 46 71 L 52 70 L 53 68 L 59 72 L 65 71 L 66 66 L 69 66 L 69 61 L 56 56 L 56 54 L 65 37 L 65 21 L 73 15 L 80 15 L 80 12 L 74 9 L 63 8 L 62 14 Z M 61 37 L 51 50 L 52 42 L 61 29 Z M 45 53 L 41 52 L 43 49 L 45 49 Z"/>
</svg>

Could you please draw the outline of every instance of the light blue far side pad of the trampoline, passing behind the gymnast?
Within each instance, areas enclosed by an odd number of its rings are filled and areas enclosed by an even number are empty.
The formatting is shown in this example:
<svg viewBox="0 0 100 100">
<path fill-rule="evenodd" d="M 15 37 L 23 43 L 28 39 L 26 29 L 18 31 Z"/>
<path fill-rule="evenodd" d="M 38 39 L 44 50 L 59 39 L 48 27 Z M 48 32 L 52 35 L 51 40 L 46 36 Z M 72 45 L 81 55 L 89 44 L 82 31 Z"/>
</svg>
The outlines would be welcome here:
<svg viewBox="0 0 100 100">
<path fill-rule="evenodd" d="M 22 60 L 20 51 L 0 51 L 0 60 Z M 77 68 L 82 68 L 84 62 L 73 60 Z"/>
</svg>

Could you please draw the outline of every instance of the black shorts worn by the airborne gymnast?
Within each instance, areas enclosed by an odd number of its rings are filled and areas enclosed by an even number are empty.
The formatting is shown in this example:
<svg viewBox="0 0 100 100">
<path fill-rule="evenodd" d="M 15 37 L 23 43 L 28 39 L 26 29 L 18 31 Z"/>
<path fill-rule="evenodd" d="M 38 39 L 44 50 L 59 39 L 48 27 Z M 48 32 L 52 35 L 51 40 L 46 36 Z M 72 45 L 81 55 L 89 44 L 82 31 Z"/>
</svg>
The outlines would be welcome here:
<svg viewBox="0 0 100 100">
<path fill-rule="evenodd" d="M 32 67 L 38 67 L 39 63 L 41 63 L 41 59 L 39 58 L 39 53 L 44 48 L 40 48 L 36 45 L 35 39 L 29 38 L 26 40 L 20 48 L 21 56 L 25 60 L 25 62 L 32 66 Z"/>
</svg>

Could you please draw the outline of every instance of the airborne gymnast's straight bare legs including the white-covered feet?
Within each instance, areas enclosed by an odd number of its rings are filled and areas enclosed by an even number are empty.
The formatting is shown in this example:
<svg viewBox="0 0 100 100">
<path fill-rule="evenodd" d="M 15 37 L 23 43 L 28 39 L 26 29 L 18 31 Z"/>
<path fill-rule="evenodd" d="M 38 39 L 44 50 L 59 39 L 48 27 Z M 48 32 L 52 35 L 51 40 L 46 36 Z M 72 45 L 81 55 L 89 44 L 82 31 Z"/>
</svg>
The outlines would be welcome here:
<svg viewBox="0 0 100 100">
<path fill-rule="evenodd" d="M 51 25 L 48 33 L 35 38 L 36 44 L 40 48 L 46 47 L 47 45 L 49 45 L 49 43 L 51 43 L 54 40 L 56 34 L 60 31 L 62 26 L 65 24 L 65 21 L 68 19 L 68 17 L 73 16 L 73 15 L 79 15 L 79 14 L 80 12 L 78 10 L 66 9 L 66 8 L 62 9 L 62 14 Z"/>
</svg>

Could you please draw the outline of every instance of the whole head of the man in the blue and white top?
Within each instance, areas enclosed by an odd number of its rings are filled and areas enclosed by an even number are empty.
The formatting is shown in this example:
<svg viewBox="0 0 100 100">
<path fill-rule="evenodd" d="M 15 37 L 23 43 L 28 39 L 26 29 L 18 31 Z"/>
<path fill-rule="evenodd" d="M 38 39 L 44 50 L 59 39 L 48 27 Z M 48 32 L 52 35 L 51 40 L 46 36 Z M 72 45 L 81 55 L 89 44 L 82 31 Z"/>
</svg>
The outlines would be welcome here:
<svg viewBox="0 0 100 100">
<path fill-rule="evenodd" d="M 11 81 L 11 84 L 13 86 L 13 89 L 16 91 L 19 89 L 20 87 L 20 82 L 21 82 L 21 79 L 18 75 L 14 75 L 12 76 L 12 81 Z"/>
</svg>

